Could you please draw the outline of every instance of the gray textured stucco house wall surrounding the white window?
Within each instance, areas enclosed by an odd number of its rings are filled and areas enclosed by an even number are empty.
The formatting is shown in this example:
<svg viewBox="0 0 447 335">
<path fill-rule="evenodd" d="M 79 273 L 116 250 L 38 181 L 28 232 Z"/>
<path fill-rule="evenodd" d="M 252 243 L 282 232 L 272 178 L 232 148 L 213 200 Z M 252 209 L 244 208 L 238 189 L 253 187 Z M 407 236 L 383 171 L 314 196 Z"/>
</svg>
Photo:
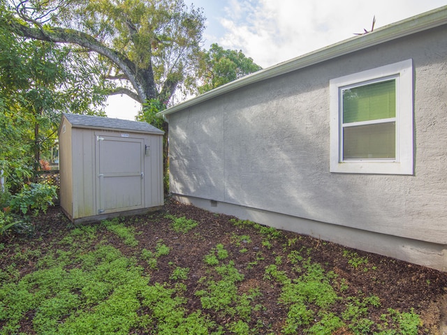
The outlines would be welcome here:
<svg viewBox="0 0 447 335">
<path fill-rule="evenodd" d="M 170 191 L 447 243 L 447 27 L 251 84 L 168 115 Z M 413 176 L 329 172 L 329 80 L 413 59 Z"/>
</svg>

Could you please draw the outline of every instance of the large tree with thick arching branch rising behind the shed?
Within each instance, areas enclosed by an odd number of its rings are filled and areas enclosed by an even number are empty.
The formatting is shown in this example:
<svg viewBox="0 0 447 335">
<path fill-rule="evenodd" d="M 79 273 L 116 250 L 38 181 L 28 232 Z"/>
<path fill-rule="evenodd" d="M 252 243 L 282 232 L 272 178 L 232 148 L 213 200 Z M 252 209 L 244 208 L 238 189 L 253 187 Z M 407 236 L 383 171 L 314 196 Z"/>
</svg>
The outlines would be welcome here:
<svg viewBox="0 0 447 335">
<path fill-rule="evenodd" d="M 14 8 L 3 24 L 28 38 L 96 53 L 108 66 L 105 77 L 119 82 L 109 93 L 139 103 L 168 103 L 192 75 L 205 20 L 183 0 L 24 0 Z"/>
</svg>

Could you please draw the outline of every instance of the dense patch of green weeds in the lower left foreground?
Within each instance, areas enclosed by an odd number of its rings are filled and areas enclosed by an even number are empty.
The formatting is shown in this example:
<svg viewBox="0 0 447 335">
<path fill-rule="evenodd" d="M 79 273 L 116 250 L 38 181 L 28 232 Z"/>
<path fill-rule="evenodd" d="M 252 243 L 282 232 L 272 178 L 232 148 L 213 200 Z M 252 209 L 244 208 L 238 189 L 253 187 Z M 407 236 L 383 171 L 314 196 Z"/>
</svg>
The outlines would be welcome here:
<svg viewBox="0 0 447 335">
<path fill-rule="evenodd" d="M 75 267 L 64 269 L 66 260 L 55 259 L 50 267 L 1 286 L 0 320 L 15 329 L 28 311 L 36 310 L 33 322 L 38 334 L 70 334 L 71 329 L 82 334 L 128 334 L 138 325 L 137 295 L 147 287 L 148 278 L 132 260 L 111 246 L 101 246 L 68 263 Z"/>
</svg>

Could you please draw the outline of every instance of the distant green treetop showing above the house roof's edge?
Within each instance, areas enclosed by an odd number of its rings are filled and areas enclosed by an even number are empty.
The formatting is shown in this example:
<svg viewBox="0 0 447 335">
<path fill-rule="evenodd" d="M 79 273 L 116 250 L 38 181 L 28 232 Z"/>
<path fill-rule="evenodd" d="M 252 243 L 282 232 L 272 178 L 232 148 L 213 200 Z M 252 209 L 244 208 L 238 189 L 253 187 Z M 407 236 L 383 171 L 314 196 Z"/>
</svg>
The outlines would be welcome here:
<svg viewBox="0 0 447 335">
<path fill-rule="evenodd" d="M 214 43 L 209 51 L 203 52 L 200 59 L 198 77 L 203 82 L 199 84 L 198 92 L 205 93 L 258 70 L 262 70 L 261 66 L 245 57 L 242 50 L 223 50 L 223 47 Z"/>
</svg>

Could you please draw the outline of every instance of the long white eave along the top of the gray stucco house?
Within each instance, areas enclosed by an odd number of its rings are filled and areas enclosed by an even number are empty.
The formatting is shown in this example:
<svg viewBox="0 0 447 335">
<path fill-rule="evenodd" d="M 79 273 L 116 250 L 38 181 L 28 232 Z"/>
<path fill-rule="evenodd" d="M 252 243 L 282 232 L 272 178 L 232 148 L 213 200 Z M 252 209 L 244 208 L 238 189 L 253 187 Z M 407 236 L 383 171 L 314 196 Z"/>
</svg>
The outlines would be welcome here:
<svg viewBox="0 0 447 335">
<path fill-rule="evenodd" d="M 354 36 L 347 40 L 342 40 L 342 42 L 329 45 L 328 47 L 323 47 L 314 52 L 309 52 L 308 54 L 304 54 L 289 61 L 284 61 L 277 65 L 271 66 L 270 68 L 265 68 L 263 70 L 259 70 L 258 72 L 251 73 L 250 75 L 246 75 L 238 80 L 229 82 L 221 87 L 217 87 L 217 89 L 212 89 L 211 91 L 200 94 L 195 98 L 179 103 L 178 105 L 164 110 L 163 112 L 159 112 L 159 115 L 165 116 L 168 114 L 173 114 L 217 96 L 226 94 L 230 91 L 240 89 L 241 87 L 245 87 L 249 84 L 268 80 L 272 77 L 277 77 L 279 75 L 284 75 L 286 73 L 299 70 L 300 68 L 306 68 L 308 66 L 322 63 L 323 61 L 335 59 L 336 57 L 341 57 L 358 50 L 363 50 L 367 47 L 386 43 L 390 40 L 416 34 L 420 31 L 439 27 L 444 24 L 447 24 L 447 6 L 430 10 L 393 24 L 388 24 L 387 26 L 376 29 L 368 34 Z"/>
</svg>

